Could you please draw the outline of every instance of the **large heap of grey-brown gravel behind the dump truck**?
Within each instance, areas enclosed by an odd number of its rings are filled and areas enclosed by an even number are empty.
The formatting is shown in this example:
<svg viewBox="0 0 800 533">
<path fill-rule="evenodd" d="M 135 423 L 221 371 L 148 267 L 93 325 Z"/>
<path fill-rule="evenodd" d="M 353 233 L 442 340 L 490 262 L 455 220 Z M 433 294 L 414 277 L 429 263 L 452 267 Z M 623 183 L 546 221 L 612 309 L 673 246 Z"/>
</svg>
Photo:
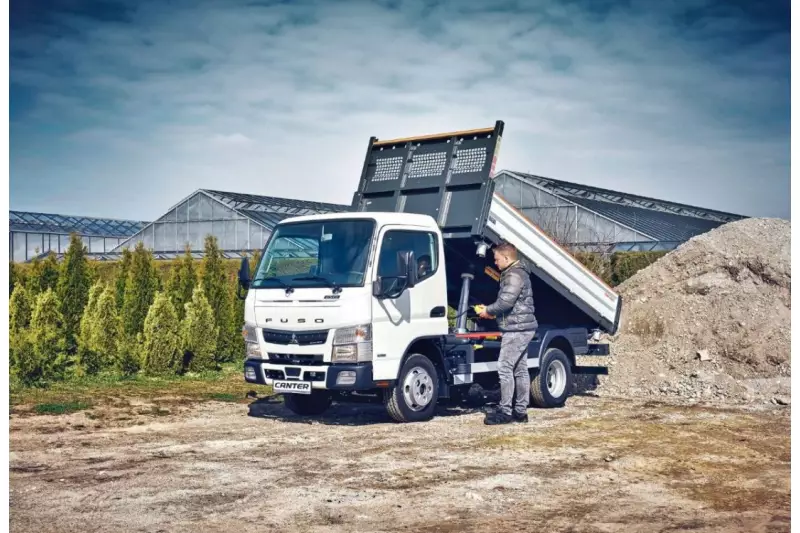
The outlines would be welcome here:
<svg viewBox="0 0 800 533">
<path fill-rule="evenodd" d="M 732 222 L 620 285 L 598 392 L 788 404 L 790 233 L 785 220 Z"/>
</svg>

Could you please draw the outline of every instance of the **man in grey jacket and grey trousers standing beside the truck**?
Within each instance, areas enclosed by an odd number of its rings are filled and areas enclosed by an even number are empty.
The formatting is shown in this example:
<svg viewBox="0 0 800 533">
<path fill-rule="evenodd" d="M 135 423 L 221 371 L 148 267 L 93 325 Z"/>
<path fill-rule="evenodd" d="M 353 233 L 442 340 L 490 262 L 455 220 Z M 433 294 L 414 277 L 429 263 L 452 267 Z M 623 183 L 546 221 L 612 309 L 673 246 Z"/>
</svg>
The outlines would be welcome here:
<svg viewBox="0 0 800 533">
<path fill-rule="evenodd" d="M 528 344 L 539 326 L 534 315 L 530 271 L 519 260 L 514 245 L 503 243 L 494 248 L 494 263 L 500 269 L 500 292 L 497 301 L 480 311 L 481 318 L 497 318 L 503 332 L 497 373 L 500 377 L 500 406 L 486 416 L 485 424 L 508 424 L 528 421 L 531 378 L 528 373 Z M 516 387 L 515 387 L 516 384 Z M 516 396 L 515 396 L 516 388 Z M 515 398 L 514 412 L 511 412 Z"/>
</svg>

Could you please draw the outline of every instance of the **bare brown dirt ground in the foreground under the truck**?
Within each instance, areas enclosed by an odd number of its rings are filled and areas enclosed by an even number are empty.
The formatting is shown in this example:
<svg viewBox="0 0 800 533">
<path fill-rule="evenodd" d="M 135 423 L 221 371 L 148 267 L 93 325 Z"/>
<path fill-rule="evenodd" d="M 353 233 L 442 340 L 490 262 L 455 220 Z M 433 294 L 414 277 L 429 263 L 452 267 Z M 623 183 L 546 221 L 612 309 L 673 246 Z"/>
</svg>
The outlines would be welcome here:
<svg viewBox="0 0 800 533">
<path fill-rule="evenodd" d="M 487 427 L 277 398 L 10 420 L 11 531 L 790 529 L 790 407 L 576 396 Z"/>
</svg>

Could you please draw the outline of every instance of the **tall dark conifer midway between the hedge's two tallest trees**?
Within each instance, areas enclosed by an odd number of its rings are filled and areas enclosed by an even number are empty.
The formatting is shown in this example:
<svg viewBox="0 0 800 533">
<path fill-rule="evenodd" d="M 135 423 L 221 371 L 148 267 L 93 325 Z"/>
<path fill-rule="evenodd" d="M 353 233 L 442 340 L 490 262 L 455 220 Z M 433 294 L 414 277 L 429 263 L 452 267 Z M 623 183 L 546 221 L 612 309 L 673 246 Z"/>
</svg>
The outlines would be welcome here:
<svg viewBox="0 0 800 533">
<path fill-rule="evenodd" d="M 153 254 L 139 241 L 131 258 L 125 296 L 122 305 L 122 323 L 125 333 L 136 335 L 144 328 L 144 321 L 158 291 L 158 274 L 153 264 Z"/>
</svg>

